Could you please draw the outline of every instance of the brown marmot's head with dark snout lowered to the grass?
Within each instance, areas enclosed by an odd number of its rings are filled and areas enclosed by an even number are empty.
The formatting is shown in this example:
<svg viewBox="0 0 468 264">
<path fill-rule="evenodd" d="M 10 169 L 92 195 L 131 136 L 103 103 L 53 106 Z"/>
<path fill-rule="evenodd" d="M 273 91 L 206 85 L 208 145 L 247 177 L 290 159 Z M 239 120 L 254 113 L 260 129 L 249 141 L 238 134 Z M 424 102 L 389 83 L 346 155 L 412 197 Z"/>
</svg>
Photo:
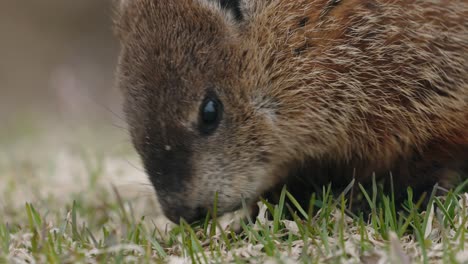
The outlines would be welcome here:
<svg viewBox="0 0 468 264">
<path fill-rule="evenodd" d="M 116 21 L 132 141 L 172 221 L 204 217 L 215 193 L 219 213 L 238 209 L 284 174 L 276 102 L 233 3 L 126 0 Z"/>
</svg>

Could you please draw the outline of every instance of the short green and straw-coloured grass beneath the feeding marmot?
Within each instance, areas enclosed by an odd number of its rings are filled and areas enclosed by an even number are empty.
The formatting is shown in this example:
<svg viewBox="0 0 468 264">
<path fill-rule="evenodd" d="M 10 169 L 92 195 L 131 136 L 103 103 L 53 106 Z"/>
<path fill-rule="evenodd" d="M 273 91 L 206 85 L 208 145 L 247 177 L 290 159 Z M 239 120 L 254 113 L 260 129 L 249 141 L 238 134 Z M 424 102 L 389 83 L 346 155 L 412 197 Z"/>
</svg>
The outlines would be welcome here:
<svg viewBox="0 0 468 264">
<path fill-rule="evenodd" d="M 118 177 L 143 181 L 144 174 L 128 166 L 136 160 L 133 152 L 71 149 L 66 158 L 34 152 L 26 158 L 12 144 L 0 156 L 0 263 L 468 262 L 465 186 L 444 197 L 433 192 L 425 208 L 409 189 L 404 210 L 397 211 L 394 197 L 377 185 L 365 190 L 355 184 L 368 215 L 348 210 L 349 188 L 333 197 L 324 187 L 311 196 L 310 208 L 283 189 L 278 204 L 260 202 L 256 219 L 208 216 L 167 226 L 157 209 L 148 212 L 157 208 L 152 190 L 133 183 L 146 191 L 128 195 L 132 181 L 122 184 Z M 68 167 L 61 168 L 64 163 Z M 61 178 L 74 188 L 50 186 Z"/>
</svg>

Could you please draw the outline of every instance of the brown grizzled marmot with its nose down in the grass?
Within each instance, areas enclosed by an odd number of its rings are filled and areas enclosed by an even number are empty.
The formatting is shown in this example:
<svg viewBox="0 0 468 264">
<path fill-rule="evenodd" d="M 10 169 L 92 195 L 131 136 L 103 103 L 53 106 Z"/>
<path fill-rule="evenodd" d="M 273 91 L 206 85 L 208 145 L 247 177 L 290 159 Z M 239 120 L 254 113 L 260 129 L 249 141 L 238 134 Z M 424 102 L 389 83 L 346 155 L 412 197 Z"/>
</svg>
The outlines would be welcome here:
<svg viewBox="0 0 468 264">
<path fill-rule="evenodd" d="M 466 0 L 122 0 L 116 32 L 131 139 L 172 221 L 301 168 L 398 190 L 468 172 Z"/>
</svg>

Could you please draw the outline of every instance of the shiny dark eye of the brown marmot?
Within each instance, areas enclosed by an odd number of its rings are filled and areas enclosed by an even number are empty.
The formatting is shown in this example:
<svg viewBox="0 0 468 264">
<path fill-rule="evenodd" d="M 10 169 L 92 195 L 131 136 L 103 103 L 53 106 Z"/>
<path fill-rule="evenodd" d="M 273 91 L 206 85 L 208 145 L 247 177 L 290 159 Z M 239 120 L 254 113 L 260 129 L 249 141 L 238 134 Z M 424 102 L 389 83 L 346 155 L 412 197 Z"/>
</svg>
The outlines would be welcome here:
<svg viewBox="0 0 468 264">
<path fill-rule="evenodd" d="M 200 130 L 204 134 L 213 132 L 222 116 L 222 104 L 216 98 L 206 98 L 200 109 Z"/>
</svg>

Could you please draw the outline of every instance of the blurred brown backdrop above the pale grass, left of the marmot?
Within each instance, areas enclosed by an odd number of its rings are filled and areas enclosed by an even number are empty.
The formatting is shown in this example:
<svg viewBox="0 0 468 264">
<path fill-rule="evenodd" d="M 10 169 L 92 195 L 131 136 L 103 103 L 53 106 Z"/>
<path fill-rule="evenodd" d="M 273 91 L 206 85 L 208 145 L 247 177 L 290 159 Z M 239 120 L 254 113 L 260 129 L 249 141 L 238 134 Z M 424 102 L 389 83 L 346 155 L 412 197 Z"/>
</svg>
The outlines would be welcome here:
<svg viewBox="0 0 468 264">
<path fill-rule="evenodd" d="M 0 1 L 0 129 L 19 119 L 113 122 L 112 14 L 111 0 Z"/>
</svg>

